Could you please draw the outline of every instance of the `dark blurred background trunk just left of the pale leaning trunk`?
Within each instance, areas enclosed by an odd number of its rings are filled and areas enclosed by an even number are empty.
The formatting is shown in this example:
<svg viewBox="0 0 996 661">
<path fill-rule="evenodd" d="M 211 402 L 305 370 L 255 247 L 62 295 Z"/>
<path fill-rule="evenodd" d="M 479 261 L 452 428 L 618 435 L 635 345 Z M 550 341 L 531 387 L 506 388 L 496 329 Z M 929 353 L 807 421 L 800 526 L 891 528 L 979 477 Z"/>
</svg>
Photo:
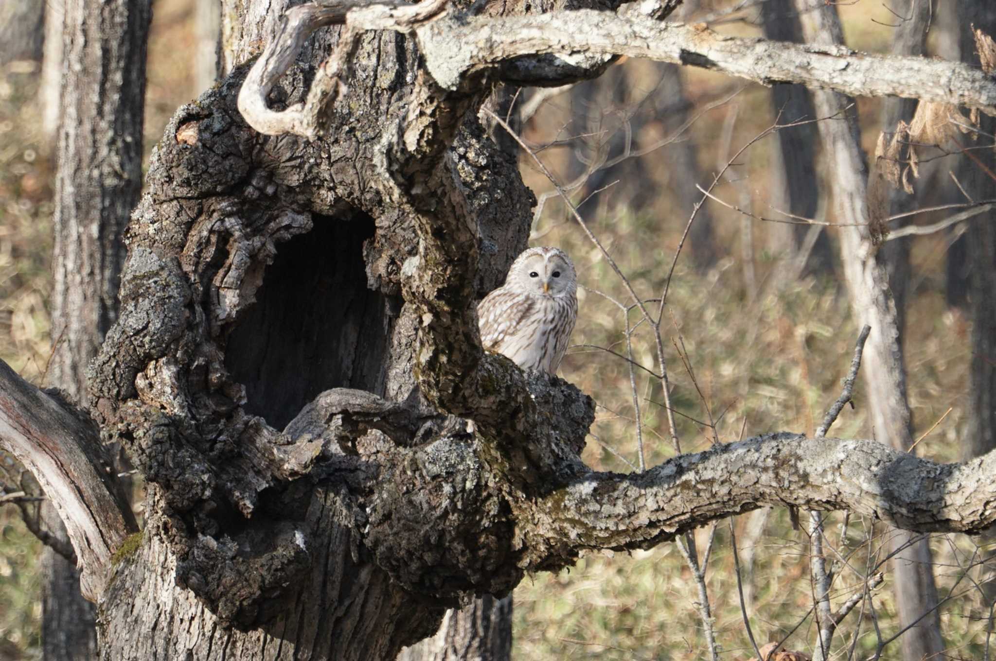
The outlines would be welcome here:
<svg viewBox="0 0 996 661">
<path fill-rule="evenodd" d="M 792 0 L 769 0 L 761 4 L 764 35 L 768 39 L 802 43 L 802 26 L 792 7 Z M 811 93 L 801 85 L 774 85 L 771 104 L 779 123 L 816 118 Z M 819 209 L 820 181 L 817 177 L 816 152 L 819 132 L 816 124 L 803 123 L 776 134 L 772 146 L 771 204 L 801 218 L 816 218 Z M 753 221 L 751 221 L 753 222 Z M 819 233 L 814 243 L 807 242 L 810 232 Z M 830 239 L 817 226 L 766 223 L 768 252 L 779 259 L 779 282 L 795 282 L 805 271 L 821 273 L 834 268 Z M 803 247 L 812 247 L 803 254 Z M 807 265 L 810 265 L 807 269 Z"/>
</svg>

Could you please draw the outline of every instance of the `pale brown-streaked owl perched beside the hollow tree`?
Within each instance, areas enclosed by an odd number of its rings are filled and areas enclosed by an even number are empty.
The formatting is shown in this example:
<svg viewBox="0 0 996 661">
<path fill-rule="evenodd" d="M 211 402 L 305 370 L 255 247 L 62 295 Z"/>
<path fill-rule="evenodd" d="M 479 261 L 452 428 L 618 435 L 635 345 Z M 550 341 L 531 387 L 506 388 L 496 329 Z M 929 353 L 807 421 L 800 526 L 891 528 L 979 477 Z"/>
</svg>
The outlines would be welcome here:
<svg viewBox="0 0 996 661">
<path fill-rule="evenodd" d="M 557 373 L 578 320 L 578 277 L 559 248 L 529 248 L 477 305 L 481 343 L 523 369 Z"/>
</svg>

